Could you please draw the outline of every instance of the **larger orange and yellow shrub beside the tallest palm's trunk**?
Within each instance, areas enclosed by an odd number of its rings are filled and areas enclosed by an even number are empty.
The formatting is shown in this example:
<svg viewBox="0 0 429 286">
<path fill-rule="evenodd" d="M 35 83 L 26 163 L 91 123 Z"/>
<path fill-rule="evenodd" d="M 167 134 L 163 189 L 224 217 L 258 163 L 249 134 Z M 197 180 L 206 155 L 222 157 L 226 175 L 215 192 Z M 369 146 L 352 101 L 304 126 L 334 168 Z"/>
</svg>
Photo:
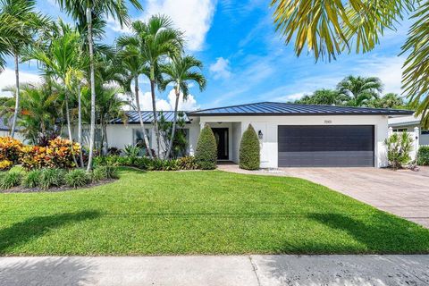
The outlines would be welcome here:
<svg viewBox="0 0 429 286">
<path fill-rule="evenodd" d="M 73 155 L 80 153 L 80 145 L 70 140 L 55 138 L 46 147 L 26 146 L 21 148 L 21 164 L 26 170 L 41 168 L 69 169 L 75 166 Z"/>
</svg>

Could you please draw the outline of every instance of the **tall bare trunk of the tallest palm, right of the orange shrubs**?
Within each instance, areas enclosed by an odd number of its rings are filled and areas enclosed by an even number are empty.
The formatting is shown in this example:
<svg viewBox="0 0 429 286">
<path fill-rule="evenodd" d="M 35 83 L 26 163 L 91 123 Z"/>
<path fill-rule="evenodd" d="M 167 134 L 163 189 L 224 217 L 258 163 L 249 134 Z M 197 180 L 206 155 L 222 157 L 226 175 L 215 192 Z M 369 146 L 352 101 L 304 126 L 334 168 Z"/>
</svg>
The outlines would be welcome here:
<svg viewBox="0 0 429 286">
<path fill-rule="evenodd" d="M 96 138 L 96 79 L 94 71 L 94 46 L 92 41 L 92 14 L 91 8 L 87 7 L 88 21 L 88 46 L 89 46 L 89 67 L 90 67 L 90 84 L 91 84 L 91 122 L 89 130 L 89 156 L 87 172 L 92 169 L 92 156 L 94 155 L 94 141 Z"/>
</svg>

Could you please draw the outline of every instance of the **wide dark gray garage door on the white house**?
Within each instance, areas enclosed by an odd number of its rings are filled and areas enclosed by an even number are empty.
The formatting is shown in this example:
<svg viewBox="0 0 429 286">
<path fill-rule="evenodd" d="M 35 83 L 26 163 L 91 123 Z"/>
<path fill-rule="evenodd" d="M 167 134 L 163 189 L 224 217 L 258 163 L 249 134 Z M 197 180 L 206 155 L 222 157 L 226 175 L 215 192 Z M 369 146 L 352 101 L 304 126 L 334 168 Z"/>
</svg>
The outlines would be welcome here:
<svg viewBox="0 0 429 286">
<path fill-rule="evenodd" d="M 373 167 L 374 126 L 279 126 L 279 167 Z"/>
</svg>

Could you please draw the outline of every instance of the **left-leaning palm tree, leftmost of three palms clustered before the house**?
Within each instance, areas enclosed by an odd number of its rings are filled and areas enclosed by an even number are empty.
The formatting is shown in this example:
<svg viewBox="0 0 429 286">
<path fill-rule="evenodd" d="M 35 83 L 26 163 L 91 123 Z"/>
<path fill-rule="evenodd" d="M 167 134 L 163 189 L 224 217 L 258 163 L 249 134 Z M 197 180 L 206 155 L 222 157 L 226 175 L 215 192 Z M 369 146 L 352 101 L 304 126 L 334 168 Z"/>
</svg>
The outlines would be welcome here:
<svg viewBox="0 0 429 286">
<path fill-rule="evenodd" d="M 147 153 L 149 154 L 150 158 L 153 158 L 149 139 L 147 137 L 147 132 L 145 129 L 145 124 L 141 115 L 141 108 L 139 102 L 139 75 L 143 73 L 147 74 L 147 65 L 145 64 L 139 53 L 139 38 L 122 36 L 118 38 L 117 45 L 121 49 L 118 56 L 120 58 L 122 66 L 126 71 L 130 72 L 130 79 L 134 80 L 134 95 L 136 98 L 137 112 L 139 114 L 140 128 L 143 134 L 143 139 L 145 140 L 145 145 L 147 147 Z M 128 80 L 125 80 L 125 82 L 122 82 L 122 84 L 128 82 Z"/>
</svg>

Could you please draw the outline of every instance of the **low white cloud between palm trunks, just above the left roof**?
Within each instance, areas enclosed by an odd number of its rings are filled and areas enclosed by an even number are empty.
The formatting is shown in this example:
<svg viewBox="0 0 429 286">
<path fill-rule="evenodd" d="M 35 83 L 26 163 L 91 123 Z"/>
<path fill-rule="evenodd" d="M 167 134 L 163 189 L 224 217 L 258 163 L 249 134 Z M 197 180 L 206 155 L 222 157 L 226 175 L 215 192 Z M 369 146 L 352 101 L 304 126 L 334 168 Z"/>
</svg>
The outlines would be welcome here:
<svg viewBox="0 0 429 286">
<path fill-rule="evenodd" d="M 158 98 L 156 99 L 156 110 L 171 111 L 174 110 L 176 96 L 174 90 L 171 90 L 168 94 L 167 99 Z M 140 108 L 141 110 L 152 110 L 152 97 L 150 92 L 145 92 L 140 94 Z M 183 101 L 183 95 L 179 98 L 179 107 L 180 111 L 192 111 L 197 110 L 199 105 L 197 100 L 192 95 L 189 95 L 187 100 Z"/>
</svg>

